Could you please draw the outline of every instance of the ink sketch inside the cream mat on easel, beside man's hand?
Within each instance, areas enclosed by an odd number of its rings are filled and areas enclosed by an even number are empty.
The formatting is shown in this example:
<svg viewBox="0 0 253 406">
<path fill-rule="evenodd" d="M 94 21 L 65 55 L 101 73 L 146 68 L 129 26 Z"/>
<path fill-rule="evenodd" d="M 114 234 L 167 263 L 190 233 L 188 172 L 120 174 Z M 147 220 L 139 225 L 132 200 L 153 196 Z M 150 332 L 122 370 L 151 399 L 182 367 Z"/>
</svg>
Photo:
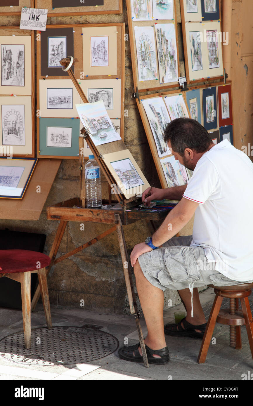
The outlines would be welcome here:
<svg viewBox="0 0 253 406">
<path fill-rule="evenodd" d="M 110 162 L 110 164 L 117 173 L 121 184 L 126 190 L 134 188 L 136 186 L 144 185 L 143 180 L 141 179 L 140 175 L 134 168 L 134 165 L 129 158 Z"/>
</svg>

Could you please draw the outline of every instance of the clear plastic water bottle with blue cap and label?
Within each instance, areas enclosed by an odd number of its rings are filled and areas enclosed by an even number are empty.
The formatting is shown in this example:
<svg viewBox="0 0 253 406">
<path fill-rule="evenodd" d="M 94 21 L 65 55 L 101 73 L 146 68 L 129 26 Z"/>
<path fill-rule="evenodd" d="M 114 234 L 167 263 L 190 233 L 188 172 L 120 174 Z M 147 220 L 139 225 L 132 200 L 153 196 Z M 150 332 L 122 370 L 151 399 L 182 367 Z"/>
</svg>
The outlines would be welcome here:
<svg viewBox="0 0 253 406">
<path fill-rule="evenodd" d="M 85 165 L 85 192 L 86 207 L 93 209 L 102 208 L 102 192 L 100 168 L 94 155 L 89 155 L 89 161 Z"/>
</svg>

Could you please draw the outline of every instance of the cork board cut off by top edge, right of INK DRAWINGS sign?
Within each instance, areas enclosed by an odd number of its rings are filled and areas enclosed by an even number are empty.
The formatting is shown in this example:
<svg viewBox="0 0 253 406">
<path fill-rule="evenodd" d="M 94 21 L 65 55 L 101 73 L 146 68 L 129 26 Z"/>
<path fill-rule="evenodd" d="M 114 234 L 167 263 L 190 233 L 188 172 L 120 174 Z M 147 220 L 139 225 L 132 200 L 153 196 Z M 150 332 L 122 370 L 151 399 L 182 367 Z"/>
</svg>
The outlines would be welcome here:
<svg viewBox="0 0 253 406">
<path fill-rule="evenodd" d="M 35 8 L 48 9 L 48 17 L 89 14 L 120 14 L 123 0 L 35 0 Z M 70 7 L 69 4 L 72 4 Z M 80 6 L 80 4 L 82 4 Z"/>
</svg>

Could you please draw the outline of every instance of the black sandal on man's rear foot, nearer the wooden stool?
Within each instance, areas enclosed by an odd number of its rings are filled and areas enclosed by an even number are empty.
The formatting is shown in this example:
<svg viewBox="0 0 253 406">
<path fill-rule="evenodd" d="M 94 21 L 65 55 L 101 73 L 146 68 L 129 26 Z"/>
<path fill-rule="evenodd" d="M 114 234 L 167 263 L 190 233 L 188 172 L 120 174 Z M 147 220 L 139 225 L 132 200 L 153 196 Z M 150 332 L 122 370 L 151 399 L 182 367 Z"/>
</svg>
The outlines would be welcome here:
<svg viewBox="0 0 253 406">
<path fill-rule="evenodd" d="M 181 326 L 181 322 L 183 322 L 184 328 Z M 185 320 L 185 317 L 181 320 L 181 322 L 177 324 L 166 324 L 164 326 L 164 333 L 174 335 L 176 337 L 193 337 L 203 339 L 207 323 L 195 326 L 194 324 L 190 324 L 187 320 Z M 201 333 L 198 333 L 195 330 L 200 330 Z"/>
</svg>

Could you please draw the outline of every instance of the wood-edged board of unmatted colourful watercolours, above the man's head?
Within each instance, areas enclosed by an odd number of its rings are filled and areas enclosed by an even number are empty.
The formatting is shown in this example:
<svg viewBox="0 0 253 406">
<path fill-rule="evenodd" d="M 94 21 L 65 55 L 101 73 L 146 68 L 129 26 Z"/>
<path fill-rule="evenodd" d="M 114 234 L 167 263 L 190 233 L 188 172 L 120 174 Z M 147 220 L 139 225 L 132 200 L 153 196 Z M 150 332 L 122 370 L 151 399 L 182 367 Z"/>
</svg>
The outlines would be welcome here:
<svg viewBox="0 0 253 406">
<path fill-rule="evenodd" d="M 134 14 L 134 6 L 136 0 L 126 0 L 127 11 L 128 11 L 128 26 L 129 26 L 129 36 L 130 36 L 130 48 L 131 48 L 131 58 L 132 58 L 132 71 L 134 78 L 134 89 L 138 87 L 138 91 L 144 92 L 149 90 L 160 90 L 160 89 L 169 89 L 175 88 L 178 86 L 178 77 L 180 76 L 179 72 L 179 54 L 178 54 L 178 35 L 177 35 L 177 18 L 176 18 L 176 5 L 175 0 L 171 2 L 173 4 L 173 17 L 171 19 L 160 19 L 161 15 L 156 15 L 154 11 L 154 2 L 153 2 L 153 13 L 152 13 L 152 2 L 150 2 L 150 11 L 149 16 L 143 19 L 136 19 Z M 154 14 L 154 17 L 151 16 Z M 134 16 L 133 16 L 134 15 Z M 168 15 L 163 13 L 164 16 Z M 155 18 L 159 17 L 159 19 Z M 149 19 L 147 19 L 149 18 Z M 164 24 L 168 24 L 170 27 L 169 31 L 164 33 Z M 173 26 L 173 30 L 172 30 Z M 141 31 L 141 27 L 145 27 L 146 30 Z M 158 27 L 162 35 L 158 35 Z M 171 30 L 173 34 L 171 34 Z M 171 38 L 173 38 L 171 40 Z M 138 44 L 138 49 L 136 47 L 136 40 Z M 171 41 L 173 41 L 173 52 L 171 52 Z M 147 46 L 145 45 L 147 44 Z M 149 65 L 152 64 L 151 79 L 147 80 L 148 74 L 142 75 L 140 69 L 140 60 L 142 50 L 145 48 L 145 52 L 148 52 L 149 55 L 145 59 L 149 59 Z M 167 50 L 166 50 L 167 48 Z M 169 50 L 168 50 L 169 49 Z M 167 52 L 167 57 L 165 56 Z M 169 54 L 169 56 L 168 56 Z M 163 58 L 163 61 L 161 61 Z M 160 63 L 159 63 L 160 62 Z M 162 75 L 161 67 L 166 65 L 167 72 L 171 73 L 169 78 L 166 78 L 167 74 Z M 173 68 L 173 69 L 172 69 Z M 149 67 L 145 66 L 145 70 L 148 70 Z M 143 69 L 143 70 L 144 70 Z M 142 72 L 143 72 L 142 70 Z M 172 76 L 173 75 L 173 76 Z M 142 78 L 145 78 L 142 80 Z M 173 81 L 172 81 L 173 80 Z"/>
</svg>

